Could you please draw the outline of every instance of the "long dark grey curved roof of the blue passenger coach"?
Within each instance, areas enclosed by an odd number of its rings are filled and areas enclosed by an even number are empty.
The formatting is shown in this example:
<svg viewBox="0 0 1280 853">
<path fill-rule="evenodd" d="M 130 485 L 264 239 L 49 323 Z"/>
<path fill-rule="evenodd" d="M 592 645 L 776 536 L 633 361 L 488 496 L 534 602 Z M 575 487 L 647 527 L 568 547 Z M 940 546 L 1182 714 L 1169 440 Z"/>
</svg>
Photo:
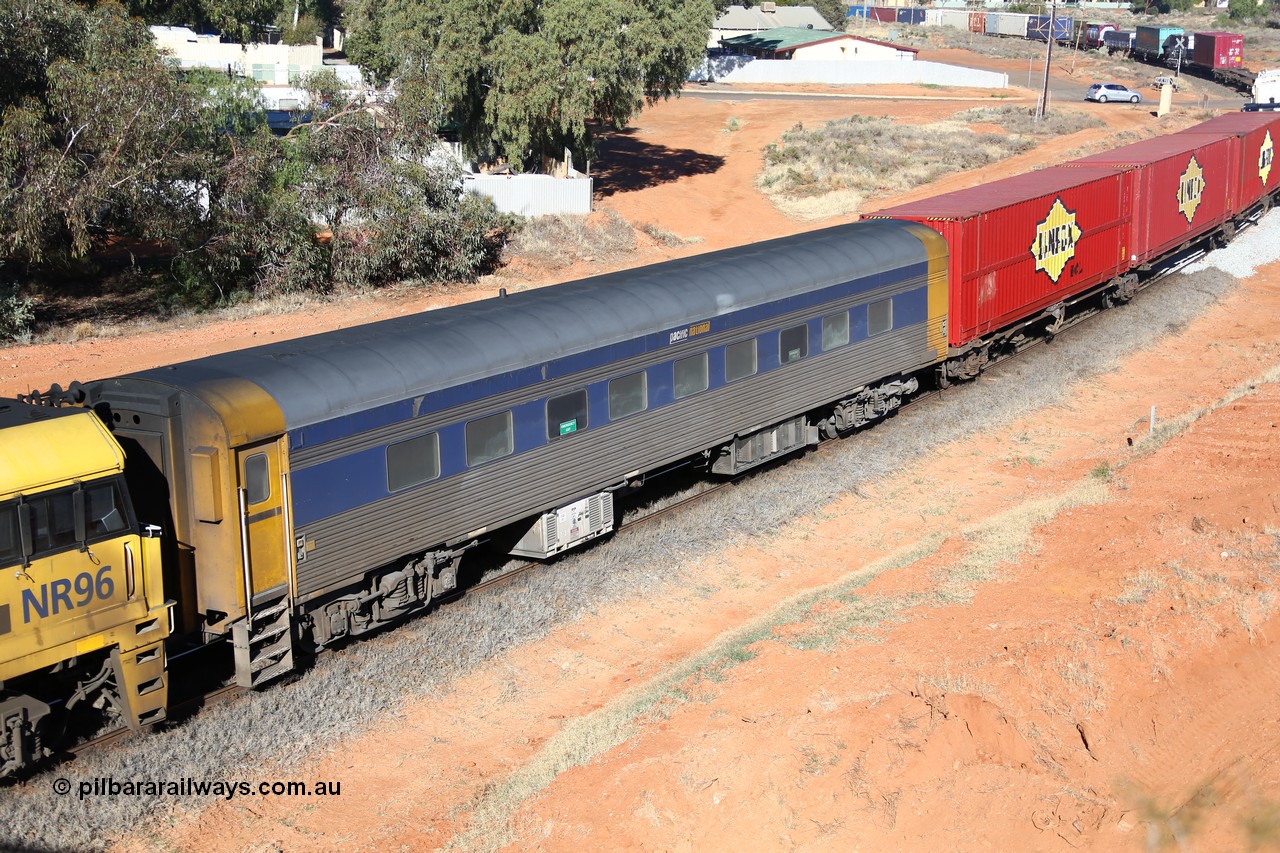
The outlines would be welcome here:
<svg viewBox="0 0 1280 853">
<path fill-rule="evenodd" d="M 247 379 L 308 426 L 925 260 L 910 223 L 837 225 L 131 374 Z"/>
</svg>

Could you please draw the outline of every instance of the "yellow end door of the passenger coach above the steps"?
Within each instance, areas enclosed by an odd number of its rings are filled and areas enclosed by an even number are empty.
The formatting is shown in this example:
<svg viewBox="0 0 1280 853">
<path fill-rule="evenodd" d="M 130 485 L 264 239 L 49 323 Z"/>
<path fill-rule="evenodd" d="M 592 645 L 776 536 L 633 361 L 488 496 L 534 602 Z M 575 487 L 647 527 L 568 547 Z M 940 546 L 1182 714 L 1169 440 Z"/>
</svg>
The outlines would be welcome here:
<svg viewBox="0 0 1280 853">
<path fill-rule="evenodd" d="M 280 451 L 279 439 L 236 451 L 239 469 L 241 548 L 250 612 L 261 606 L 264 598 L 274 601 L 288 593 L 288 496 Z"/>
</svg>

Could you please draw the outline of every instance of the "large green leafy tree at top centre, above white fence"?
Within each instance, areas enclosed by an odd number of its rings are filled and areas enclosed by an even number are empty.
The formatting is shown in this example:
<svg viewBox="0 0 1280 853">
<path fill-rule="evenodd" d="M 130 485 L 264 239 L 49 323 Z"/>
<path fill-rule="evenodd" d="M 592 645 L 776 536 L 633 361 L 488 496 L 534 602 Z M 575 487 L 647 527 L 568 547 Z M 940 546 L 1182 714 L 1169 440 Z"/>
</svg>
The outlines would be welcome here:
<svg viewBox="0 0 1280 853">
<path fill-rule="evenodd" d="M 356 0 L 348 53 L 424 120 L 458 128 L 468 154 L 527 168 L 590 156 L 593 126 L 677 93 L 713 13 L 712 0 Z"/>
</svg>

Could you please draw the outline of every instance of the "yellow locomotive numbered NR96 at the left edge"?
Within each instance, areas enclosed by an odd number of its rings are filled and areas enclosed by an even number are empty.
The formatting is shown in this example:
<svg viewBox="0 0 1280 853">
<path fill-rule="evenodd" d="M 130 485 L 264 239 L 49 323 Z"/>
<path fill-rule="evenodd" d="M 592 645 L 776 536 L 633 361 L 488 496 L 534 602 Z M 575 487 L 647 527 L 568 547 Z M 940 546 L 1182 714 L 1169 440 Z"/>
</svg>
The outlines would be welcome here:
<svg viewBox="0 0 1280 853">
<path fill-rule="evenodd" d="M 0 776 L 50 754 L 73 716 L 165 716 L 159 529 L 92 412 L 0 400 Z"/>
</svg>

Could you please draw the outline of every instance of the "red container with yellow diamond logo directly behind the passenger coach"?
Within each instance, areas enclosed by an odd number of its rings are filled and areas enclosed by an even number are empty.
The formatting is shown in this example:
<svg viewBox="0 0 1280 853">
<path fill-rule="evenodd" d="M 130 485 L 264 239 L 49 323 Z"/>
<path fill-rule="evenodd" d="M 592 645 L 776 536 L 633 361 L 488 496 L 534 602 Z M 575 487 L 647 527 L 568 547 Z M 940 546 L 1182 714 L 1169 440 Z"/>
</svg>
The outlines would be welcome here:
<svg viewBox="0 0 1280 853">
<path fill-rule="evenodd" d="M 1124 273 L 1132 181 L 1124 169 L 1055 167 L 870 218 L 909 219 L 946 237 L 947 334 L 963 347 Z"/>
</svg>

